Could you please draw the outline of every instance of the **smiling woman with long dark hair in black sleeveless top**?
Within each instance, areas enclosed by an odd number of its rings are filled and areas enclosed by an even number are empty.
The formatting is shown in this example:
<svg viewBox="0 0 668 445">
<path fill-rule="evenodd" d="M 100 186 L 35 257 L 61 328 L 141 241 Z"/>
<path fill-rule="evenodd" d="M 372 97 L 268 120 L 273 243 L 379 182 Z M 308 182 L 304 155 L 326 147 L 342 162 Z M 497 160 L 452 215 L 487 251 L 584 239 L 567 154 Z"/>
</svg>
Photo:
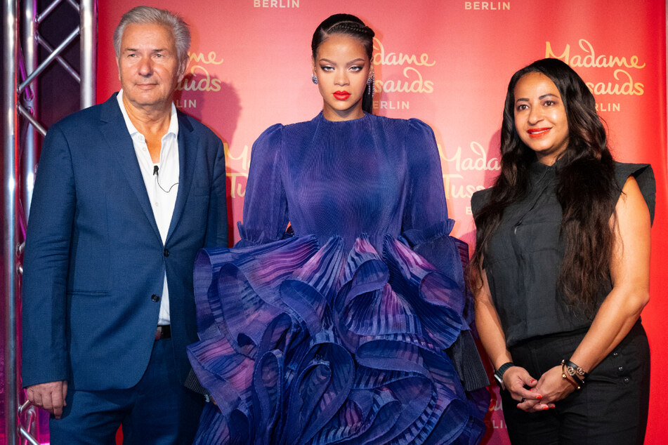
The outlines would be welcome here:
<svg viewBox="0 0 668 445">
<path fill-rule="evenodd" d="M 513 75 L 501 153 L 471 199 L 471 272 L 511 442 L 642 444 L 652 169 L 613 161 L 594 97 L 556 59 Z"/>
</svg>

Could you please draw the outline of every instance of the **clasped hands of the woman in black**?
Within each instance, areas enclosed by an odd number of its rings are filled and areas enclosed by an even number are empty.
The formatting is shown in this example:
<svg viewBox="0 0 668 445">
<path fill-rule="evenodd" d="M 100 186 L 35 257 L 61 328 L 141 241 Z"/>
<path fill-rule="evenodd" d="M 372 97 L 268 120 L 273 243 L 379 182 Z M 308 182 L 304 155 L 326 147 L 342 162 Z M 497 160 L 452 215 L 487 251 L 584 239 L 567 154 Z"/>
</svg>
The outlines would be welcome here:
<svg viewBox="0 0 668 445">
<path fill-rule="evenodd" d="M 517 407 L 528 413 L 554 408 L 554 402 L 564 399 L 575 388 L 561 377 L 561 366 L 554 366 L 536 380 L 525 368 L 513 366 L 504 373 L 504 386 Z"/>
</svg>

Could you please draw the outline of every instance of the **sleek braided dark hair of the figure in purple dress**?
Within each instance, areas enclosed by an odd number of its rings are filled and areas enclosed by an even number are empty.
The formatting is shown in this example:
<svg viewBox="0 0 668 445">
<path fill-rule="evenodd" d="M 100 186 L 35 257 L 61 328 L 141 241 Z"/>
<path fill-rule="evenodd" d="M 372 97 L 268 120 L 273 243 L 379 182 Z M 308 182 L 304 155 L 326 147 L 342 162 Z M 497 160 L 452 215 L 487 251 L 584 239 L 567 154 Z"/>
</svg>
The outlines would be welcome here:
<svg viewBox="0 0 668 445">
<path fill-rule="evenodd" d="M 355 37 L 362 42 L 365 52 L 369 56 L 369 64 L 373 64 L 374 53 L 374 30 L 369 28 L 355 15 L 351 14 L 334 14 L 330 15 L 325 21 L 320 23 L 313 33 L 313 39 L 310 42 L 311 52 L 313 53 L 313 60 L 317 57 L 317 48 L 322 44 L 327 37 L 332 34 L 346 34 Z M 372 93 L 369 88 L 365 88 L 362 95 L 362 109 L 367 113 L 372 113 L 373 107 Z"/>
</svg>

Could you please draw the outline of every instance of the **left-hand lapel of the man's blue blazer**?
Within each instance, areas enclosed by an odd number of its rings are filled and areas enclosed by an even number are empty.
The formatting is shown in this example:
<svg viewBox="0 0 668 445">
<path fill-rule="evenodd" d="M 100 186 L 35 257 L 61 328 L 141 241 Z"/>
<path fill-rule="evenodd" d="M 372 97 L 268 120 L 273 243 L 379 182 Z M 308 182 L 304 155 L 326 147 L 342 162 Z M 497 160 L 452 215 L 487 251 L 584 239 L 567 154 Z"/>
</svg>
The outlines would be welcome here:
<svg viewBox="0 0 668 445">
<path fill-rule="evenodd" d="M 143 210 L 146 218 L 148 218 L 151 227 L 153 227 L 155 234 L 162 243 L 162 237 L 160 237 L 160 231 L 155 223 L 155 216 L 153 215 L 151 203 L 148 199 L 148 193 L 146 192 L 146 185 L 144 184 L 139 169 L 139 162 L 137 161 L 137 155 L 132 144 L 132 138 L 130 137 L 130 133 L 128 133 L 123 114 L 121 114 L 121 110 L 118 107 L 116 94 L 117 93 L 114 93 L 112 97 L 103 104 L 103 109 L 100 113 L 100 120 L 103 124 L 100 130 L 104 135 L 107 145 L 109 145 L 112 152 L 114 152 L 115 158 L 128 181 L 130 189 L 137 197 L 139 206 Z M 179 187 L 179 192 L 180 191 L 181 187 Z M 119 199 L 122 199 L 122 197 L 119 197 Z"/>
</svg>

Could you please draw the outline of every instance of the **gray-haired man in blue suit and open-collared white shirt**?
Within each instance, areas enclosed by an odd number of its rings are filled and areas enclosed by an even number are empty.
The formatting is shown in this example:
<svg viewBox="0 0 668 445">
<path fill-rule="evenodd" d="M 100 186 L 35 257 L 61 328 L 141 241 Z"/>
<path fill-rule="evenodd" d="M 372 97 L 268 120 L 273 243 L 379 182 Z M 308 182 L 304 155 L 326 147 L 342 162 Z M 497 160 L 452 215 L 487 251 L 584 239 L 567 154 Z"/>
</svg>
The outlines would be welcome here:
<svg viewBox="0 0 668 445">
<path fill-rule="evenodd" d="M 122 90 L 53 125 L 25 246 L 22 377 L 51 444 L 192 441 L 192 263 L 227 244 L 223 144 L 173 105 L 190 32 L 140 6 L 114 33 Z"/>
</svg>

